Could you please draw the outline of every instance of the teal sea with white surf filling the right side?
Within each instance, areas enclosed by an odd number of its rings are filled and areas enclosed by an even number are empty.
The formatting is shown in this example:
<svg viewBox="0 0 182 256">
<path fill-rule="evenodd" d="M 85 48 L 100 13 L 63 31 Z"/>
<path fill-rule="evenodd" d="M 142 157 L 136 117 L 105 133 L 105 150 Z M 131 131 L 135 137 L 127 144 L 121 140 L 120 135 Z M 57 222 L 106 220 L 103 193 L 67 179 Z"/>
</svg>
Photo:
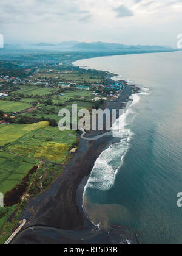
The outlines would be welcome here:
<svg viewBox="0 0 182 256">
<path fill-rule="evenodd" d="M 142 243 L 182 243 L 182 52 L 76 62 L 144 88 L 133 98 L 121 141 L 95 163 L 84 208 L 100 227 L 129 226 Z"/>
</svg>

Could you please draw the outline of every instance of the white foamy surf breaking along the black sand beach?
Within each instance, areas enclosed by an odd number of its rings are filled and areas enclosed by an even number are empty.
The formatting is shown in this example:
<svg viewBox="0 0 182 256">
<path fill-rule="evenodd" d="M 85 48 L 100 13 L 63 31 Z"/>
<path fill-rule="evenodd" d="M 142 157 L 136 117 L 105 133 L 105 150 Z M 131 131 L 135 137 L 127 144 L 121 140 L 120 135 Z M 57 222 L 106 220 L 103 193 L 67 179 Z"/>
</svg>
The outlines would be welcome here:
<svg viewBox="0 0 182 256">
<path fill-rule="evenodd" d="M 121 76 L 115 77 L 115 80 L 121 80 Z M 130 81 L 131 82 L 131 81 Z M 133 136 L 129 129 L 130 124 L 134 121 L 138 113 L 135 113 L 135 105 L 140 102 L 141 95 L 149 95 L 150 91 L 147 88 L 142 88 L 141 93 L 132 94 L 130 103 L 126 112 L 113 124 L 113 137 L 121 138 L 120 142 L 112 144 L 109 148 L 101 153 L 95 162 L 92 169 L 92 174 L 89 178 L 86 188 L 96 188 L 99 190 L 109 190 L 115 183 L 116 174 L 123 164 L 124 156 L 129 148 L 130 139 Z M 120 123 L 119 123 L 120 121 Z M 119 129 L 121 122 L 123 130 Z M 86 190 L 85 188 L 85 190 Z"/>
</svg>

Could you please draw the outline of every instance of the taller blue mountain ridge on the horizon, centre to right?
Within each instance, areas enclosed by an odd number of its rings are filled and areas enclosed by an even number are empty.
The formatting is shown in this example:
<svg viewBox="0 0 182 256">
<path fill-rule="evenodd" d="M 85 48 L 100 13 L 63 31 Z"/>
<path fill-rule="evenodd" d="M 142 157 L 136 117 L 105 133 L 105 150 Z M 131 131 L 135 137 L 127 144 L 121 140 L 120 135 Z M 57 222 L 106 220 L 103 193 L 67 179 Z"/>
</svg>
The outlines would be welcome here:
<svg viewBox="0 0 182 256">
<path fill-rule="evenodd" d="M 84 50 L 121 50 L 121 49 L 146 49 L 146 50 L 164 50 L 171 49 L 167 46 L 132 46 L 132 45 L 124 45 L 118 43 L 103 43 L 103 42 L 95 42 L 95 43 L 78 43 L 72 47 L 73 49 L 84 49 Z"/>
</svg>

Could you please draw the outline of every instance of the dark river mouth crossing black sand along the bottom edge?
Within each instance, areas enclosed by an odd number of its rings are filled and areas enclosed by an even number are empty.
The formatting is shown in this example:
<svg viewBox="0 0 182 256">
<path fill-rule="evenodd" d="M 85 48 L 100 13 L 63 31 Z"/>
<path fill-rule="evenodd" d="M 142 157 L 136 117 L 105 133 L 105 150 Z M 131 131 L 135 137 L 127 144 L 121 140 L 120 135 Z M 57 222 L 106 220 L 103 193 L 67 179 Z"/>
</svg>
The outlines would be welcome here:
<svg viewBox="0 0 182 256">
<path fill-rule="evenodd" d="M 84 231 L 70 231 L 46 226 L 23 230 L 11 244 L 138 244 L 129 227 L 112 226 L 110 232 L 97 227 Z"/>
</svg>

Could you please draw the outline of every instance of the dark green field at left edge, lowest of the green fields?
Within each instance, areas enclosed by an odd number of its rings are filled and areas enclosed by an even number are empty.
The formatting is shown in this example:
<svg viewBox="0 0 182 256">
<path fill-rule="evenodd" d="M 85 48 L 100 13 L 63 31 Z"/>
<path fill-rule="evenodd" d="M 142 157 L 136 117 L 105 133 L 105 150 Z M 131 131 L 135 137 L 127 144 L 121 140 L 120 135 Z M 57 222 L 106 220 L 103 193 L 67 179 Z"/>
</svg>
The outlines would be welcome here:
<svg viewBox="0 0 182 256">
<path fill-rule="evenodd" d="M 5 195 L 29 173 L 37 160 L 11 155 L 0 151 L 0 191 Z"/>
</svg>

